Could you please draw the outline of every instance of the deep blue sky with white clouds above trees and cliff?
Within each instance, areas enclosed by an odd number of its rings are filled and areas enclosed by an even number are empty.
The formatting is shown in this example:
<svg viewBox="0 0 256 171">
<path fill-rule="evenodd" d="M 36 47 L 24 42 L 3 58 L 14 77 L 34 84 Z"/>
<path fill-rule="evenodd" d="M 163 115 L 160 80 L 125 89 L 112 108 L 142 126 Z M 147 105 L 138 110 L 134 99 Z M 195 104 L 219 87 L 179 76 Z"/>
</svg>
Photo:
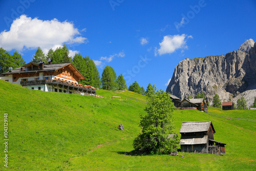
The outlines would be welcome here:
<svg viewBox="0 0 256 171">
<path fill-rule="evenodd" d="M 66 44 L 129 86 L 165 90 L 185 58 L 226 54 L 256 41 L 256 1 L 0 1 L 0 47 L 26 62 Z"/>
</svg>

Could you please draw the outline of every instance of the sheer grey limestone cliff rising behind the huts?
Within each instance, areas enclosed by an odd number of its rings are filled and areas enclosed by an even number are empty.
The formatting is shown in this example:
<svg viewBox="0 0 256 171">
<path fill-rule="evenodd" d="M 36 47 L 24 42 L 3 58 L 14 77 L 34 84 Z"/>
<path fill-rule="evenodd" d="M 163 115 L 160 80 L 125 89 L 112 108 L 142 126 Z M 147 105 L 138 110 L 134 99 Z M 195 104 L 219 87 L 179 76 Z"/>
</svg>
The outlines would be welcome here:
<svg viewBox="0 0 256 171">
<path fill-rule="evenodd" d="M 210 102 L 215 94 L 222 101 L 244 96 L 247 105 L 256 97 L 256 43 L 249 39 L 238 51 L 226 55 L 184 59 L 175 67 L 166 92 L 185 98 L 204 93 Z"/>
</svg>

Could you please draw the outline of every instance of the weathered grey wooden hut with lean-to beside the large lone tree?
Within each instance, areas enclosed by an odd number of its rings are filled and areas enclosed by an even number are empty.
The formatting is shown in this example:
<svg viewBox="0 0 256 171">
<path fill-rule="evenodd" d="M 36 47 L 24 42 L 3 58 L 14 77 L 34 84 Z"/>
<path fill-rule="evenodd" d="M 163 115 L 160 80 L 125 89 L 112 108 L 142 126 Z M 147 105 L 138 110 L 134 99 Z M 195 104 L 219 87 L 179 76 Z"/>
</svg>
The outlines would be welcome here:
<svg viewBox="0 0 256 171">
<path fill-rule="evenodd" d="M 225 154 L 225 143 L 214 140 L 211 121 L 182 122 L 180 145 L 182 152 Z"/>
</svg>

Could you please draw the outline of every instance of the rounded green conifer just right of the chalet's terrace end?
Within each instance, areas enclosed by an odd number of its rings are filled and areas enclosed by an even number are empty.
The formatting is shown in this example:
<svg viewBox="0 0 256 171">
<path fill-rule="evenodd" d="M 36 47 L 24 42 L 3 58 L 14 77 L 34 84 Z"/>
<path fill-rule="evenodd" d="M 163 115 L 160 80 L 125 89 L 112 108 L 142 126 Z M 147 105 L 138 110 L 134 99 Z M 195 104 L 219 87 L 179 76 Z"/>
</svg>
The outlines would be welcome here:
<svg viewBox="0 0 256 171">
<path fill-rule="evenodd" d="M 116 73 L 110 66 L 106 66 L 103 69 L 101 75 L 101 84 L 103 90 L 115 90 L 116 87 Z"/>
</svg>

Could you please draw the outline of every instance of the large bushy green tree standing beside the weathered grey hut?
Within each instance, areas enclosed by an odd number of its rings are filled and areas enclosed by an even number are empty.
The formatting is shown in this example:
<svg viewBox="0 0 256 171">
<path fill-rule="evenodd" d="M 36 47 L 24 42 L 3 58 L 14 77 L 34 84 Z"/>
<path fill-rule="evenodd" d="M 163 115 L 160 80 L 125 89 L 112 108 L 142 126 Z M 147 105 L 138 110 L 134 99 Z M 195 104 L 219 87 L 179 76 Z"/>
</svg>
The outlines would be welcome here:
<svg viewBox="0 0 256 171">
<path fill-rule="evenodd" d="M 147 93 L 146 115 L 140 116 L 142 133 L 135 138 L 133 146 L 142 154 L 169 154 L 179 139 L 173 133 L 174 103 L 163 91 Z"/>
</svg>

